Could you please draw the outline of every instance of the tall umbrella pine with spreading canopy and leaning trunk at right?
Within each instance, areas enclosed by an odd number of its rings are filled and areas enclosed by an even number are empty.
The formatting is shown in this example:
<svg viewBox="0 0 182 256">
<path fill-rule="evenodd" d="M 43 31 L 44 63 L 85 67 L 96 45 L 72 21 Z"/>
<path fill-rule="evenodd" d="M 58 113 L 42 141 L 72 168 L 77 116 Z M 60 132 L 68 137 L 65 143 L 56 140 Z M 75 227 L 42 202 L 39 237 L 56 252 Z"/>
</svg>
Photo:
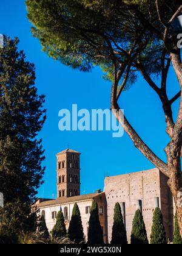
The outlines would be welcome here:
<svg viewBox="0 0 182 256">
<path fill-rule="evenodd" d="M 182 190 L 182 61 L 174 21 L 181 14 L 181 0 L 27 0 L 26 4 L 33 35 L 50 57 L 81 71 L 90 71 L 93 66 L 103 69 L 104 78 L 112 81 L 113 114 L 121 125 L 124 119 L 124 130 L 136 148 L 170 177 L 178 205 L 178 191 Z M 170 66 L 180 84 L 172 98 L 167 88 Z M 118 101 L 121 94 L 139 75 L 156 93 L 164 112 L 170 139 L 165 147 L 167 163 L 142 140 L 125 114 L 119 118 L 115 112 L 123 108 Z M 174 118 L 172 105 L 179 98 L 180 108 Z M 177 207 L 177 212 L 182 235 L 182 208 Z"/>
</svg>

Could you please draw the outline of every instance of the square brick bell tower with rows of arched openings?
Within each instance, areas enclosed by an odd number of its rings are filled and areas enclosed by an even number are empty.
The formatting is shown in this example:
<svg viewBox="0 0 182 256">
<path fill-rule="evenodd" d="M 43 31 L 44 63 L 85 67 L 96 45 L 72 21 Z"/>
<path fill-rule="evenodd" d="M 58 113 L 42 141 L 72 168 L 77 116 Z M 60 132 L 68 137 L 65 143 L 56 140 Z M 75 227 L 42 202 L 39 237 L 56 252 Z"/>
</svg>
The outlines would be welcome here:
<svg viewBox="0 0 182 256">
<path fill-rule="evenodd" d="M 80 153 L 66 149 L 57 157 L 57 197 L 80 195 Z"/>
</svg>

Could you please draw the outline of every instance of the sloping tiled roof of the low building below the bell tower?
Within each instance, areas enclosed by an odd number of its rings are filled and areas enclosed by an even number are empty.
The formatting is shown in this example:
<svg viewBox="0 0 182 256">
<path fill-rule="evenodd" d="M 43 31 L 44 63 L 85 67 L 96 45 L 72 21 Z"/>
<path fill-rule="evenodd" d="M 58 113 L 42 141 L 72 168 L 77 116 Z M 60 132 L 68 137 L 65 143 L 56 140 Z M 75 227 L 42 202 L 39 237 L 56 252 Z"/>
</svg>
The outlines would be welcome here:
<svg viewBox="0 0 182 256">
<path fill-rule="evenodd" d="M 73 197 L 60 197 L 56 200 L 41 202 L 41 204 L 38 204 L 37 206 L 40 208 L 40 207 L 46 207 L 46 206 L 52 206 L 52 205 L 67 204 L 70 202 L 86 201 L 89 199 L 93 199 L 96 196 L 98 196 L 98 193 L 83 194 L 82 196 L 73 196 Z"/>
</svg>

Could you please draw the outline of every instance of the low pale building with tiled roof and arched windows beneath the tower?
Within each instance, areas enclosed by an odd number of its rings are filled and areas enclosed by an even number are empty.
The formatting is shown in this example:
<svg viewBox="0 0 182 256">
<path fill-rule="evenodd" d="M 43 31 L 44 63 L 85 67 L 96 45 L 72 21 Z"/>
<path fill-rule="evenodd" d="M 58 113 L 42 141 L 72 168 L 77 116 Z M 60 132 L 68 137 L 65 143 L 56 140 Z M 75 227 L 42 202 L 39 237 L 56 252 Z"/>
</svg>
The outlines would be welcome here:
<svg viewBox="0 0 182 256">
<path fill-rule="evenodd" d="M 49 232 L 52 231 L 56 224 L 56 215 L 61 210 L 66 224 L 66 229 L 69 229 L 70 220 L 72 218 L 72 210 L 78 204 L 83 223 L 84 235 L 86 236 L 89 229 L 90 208 L 93 199 L 98 203 L 99 221 L 103 229 L 104 243 L 107 243 L 107 214 L 106 214 L 106 196 L 105 193 L 84 194 L 83 196 L 62 197 L 52 201 L 44 201 L 37 204 L 40 214 L 44 216 Z"/>
</svg>

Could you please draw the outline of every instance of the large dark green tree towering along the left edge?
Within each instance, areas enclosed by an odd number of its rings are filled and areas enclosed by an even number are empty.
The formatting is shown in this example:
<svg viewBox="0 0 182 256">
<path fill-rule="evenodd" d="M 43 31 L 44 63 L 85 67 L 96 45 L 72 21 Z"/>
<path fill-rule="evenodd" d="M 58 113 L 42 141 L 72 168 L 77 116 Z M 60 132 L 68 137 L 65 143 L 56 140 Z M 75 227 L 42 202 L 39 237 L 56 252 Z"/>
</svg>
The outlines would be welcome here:
<svg viewBox="0 0 182 256">
<path fill-rule="evenodd" d="M 25 219 L 30 217 L 44 174 L 44 151 L 37 135 L 45 110 L 44 96 L 35 87 L 35 66 L 18 51 L 18 43 L 18 38 L 4 37 L 0 49 L 0 190 L 4 204 L 19 205 L 11 209 L 17 216 L 16 208 L 21 209 L 19 218 L 27 226 Z"/>
</svg>

